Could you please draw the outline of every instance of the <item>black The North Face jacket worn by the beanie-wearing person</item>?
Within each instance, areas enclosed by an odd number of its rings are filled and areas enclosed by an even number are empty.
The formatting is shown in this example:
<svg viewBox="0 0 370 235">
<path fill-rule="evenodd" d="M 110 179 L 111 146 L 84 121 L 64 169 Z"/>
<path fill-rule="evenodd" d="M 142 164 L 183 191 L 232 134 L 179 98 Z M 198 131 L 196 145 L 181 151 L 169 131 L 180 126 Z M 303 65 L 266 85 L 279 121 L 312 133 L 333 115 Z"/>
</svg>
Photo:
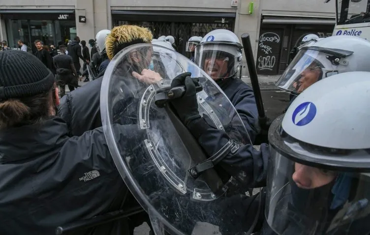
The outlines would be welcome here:
<svg viewBox="0 0 370 235">
<path fill-rule="evenodd" d="M 121 129 L 122 128 L 122 129 Z M 125 128 L 117 139 L 129 145 Z M 120 209 L 127 188 L 102 129 L 69 137 L 51 117 L 0 133 L 1 235 L 50 235 L 58 226 Z M 126 234 L 126 220 L 77 234 Z"/>
</svg>

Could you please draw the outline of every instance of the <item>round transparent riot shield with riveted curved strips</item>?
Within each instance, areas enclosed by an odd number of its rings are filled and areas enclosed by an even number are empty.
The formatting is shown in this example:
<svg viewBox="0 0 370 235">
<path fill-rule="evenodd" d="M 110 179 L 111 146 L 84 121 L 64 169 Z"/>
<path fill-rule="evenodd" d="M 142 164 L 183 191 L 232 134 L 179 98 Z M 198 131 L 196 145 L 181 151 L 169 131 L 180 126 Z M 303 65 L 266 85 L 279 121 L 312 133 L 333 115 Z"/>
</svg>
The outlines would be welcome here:
<svg viewBox="0 0 370 235">
<path fill-rule="evenodd" d="M 133 76 L 149 67 L 155 79 Z M 235 108 L 204 71 L 167 48 L 136 44 L 118 53 L 104 75 L 100 110 L 107 145 L 156 234 L 244 234 L 250 229 L 243 207 L 247 188 L 225 174 L 222 163 L 192 174 L 210 156 L 166 100 L 171 81 L 189 67 L 202 86 L 199 113 L 212 122 L 216 136 L 226 133 L 240 146 L 251 144 Z M 222 152 L 223 146 L 215 147 Z"/>
</svg>

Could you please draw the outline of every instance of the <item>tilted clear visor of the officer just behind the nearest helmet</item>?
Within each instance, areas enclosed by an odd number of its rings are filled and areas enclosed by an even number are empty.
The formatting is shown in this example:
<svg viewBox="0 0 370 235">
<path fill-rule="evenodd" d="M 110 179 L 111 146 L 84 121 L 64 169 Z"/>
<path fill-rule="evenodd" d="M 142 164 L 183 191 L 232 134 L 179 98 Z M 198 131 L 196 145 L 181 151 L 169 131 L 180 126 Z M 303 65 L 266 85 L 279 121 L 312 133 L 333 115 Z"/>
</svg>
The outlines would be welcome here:
<svg viewBox="0 0 370 235">
<path fill-rule="evenodd" d="M 332 55 L 320 51 L 300 50 L 276 86 L 294 94 L 301 93 L 315 82 L 338 73 L 338 66 L 330 61 L 331 57 Z"/>
</svg>

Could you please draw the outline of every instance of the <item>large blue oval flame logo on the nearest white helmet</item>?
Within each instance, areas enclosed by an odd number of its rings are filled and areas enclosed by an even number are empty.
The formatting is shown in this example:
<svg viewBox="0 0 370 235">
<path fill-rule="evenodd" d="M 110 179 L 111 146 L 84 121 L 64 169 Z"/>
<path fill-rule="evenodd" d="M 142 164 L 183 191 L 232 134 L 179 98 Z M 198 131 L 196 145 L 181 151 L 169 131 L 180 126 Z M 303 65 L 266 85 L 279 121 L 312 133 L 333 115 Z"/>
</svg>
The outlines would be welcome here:
<svg viewBox="0 0 370 235">
<path fill-rule="evenodd" d="M 310 123 L 316 116 L 316 106 L 312 102 L 300 104 L 293 112 L 292 121 L 297 126 Z"/>
</svg>

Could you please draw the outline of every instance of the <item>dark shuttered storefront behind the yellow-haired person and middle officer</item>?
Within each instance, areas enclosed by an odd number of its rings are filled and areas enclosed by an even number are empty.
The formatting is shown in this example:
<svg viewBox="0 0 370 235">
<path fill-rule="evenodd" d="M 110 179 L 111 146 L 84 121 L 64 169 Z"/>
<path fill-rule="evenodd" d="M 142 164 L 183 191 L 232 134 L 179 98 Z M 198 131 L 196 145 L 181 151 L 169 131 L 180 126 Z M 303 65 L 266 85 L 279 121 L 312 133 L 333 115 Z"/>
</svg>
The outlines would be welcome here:
<svg viewBox="0 0 370 235">
<path fill-rule="evenodd" d="M 186 42 L 191 36 L 203 37 L 214 29 L 233 31 L 235 17 L 235 12 L 112 10 L 113 26 L 146 27 L 151 29 L 154 38 L 172 35 L 176 50 L 183 55 L 186 55 Z"/>
</svg>

